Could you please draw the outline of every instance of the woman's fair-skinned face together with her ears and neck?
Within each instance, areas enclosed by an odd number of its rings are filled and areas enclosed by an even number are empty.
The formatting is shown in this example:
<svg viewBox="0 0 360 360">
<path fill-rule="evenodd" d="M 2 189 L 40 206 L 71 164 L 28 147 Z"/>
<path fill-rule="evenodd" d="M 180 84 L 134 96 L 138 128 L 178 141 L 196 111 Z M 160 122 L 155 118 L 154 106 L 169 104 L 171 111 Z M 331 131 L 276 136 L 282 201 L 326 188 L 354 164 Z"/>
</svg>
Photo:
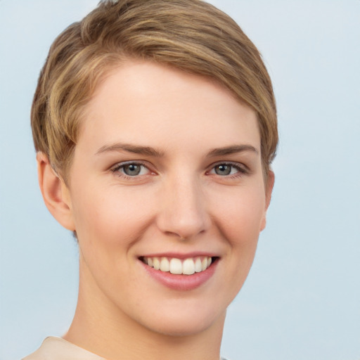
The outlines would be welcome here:
<svg viewBox="0 0 360 360">
<path fill-rule="evenodd" d="M 203 77 L 129 62 L 84 115 L 67 185 L 37 155 L 45 203 L 79 240 L 65 340 L 110 360 L 218 360 L 274 184 L 254 111 Z M 200 269 L 171 274 L 155 258 Z"/>
</svg>

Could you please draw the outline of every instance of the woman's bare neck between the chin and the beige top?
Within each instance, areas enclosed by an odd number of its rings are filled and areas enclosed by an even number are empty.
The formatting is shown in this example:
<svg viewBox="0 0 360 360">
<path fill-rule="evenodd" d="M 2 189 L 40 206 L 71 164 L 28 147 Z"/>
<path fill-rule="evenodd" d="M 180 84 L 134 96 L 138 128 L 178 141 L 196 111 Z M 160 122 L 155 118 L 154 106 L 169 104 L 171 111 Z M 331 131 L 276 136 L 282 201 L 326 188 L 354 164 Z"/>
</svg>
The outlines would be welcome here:
<svg viewBox="0 0 360 360">
<path fill-rule="evenodd" d="M 208 328 L 190 334 L 156 332 L 131 319 L 80 276 L 77 309 L 64 339 L 109 360 L 219 360 L 224 321 L 222 314 Z"/>
</svg>

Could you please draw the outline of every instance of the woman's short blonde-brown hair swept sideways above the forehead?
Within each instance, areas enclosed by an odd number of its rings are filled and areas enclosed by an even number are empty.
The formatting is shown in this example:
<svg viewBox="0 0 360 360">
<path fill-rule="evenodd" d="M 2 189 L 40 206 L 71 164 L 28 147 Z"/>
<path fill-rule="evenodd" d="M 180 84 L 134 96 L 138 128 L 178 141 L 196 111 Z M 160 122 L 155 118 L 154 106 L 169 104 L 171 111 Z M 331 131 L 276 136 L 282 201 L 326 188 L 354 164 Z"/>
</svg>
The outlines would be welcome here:
<svg viewBox="0 0 360 360">
<path fill-rule="evenodd" d="M 201 0 L 105 0 L 53 42 L 34 94 L 34 146 L 59 176 L 66 181 L 96 86 L 131 59 L 210 78 L 255 110 L 268 174 L 278 143 L 276 103 L 262 57 L 240 27 Z"/>
</svg>

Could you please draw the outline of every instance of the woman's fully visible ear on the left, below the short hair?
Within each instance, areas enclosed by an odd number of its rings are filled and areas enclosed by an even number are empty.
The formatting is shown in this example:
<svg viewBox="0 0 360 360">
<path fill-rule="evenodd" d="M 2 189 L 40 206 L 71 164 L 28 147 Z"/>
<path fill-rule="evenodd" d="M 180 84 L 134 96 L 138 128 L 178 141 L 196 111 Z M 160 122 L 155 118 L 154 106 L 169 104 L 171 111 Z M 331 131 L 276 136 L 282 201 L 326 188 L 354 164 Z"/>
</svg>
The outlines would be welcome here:
<svg viewBox="0 0 360 360">
<path fill-rule="evenodd" d="M 49 212 L 65 229 L 75 231 L 69 189 L 51 167 L 49 158 L 41 152 L 37 153 L 37 174 L 41 194 Z"/>
</svg>

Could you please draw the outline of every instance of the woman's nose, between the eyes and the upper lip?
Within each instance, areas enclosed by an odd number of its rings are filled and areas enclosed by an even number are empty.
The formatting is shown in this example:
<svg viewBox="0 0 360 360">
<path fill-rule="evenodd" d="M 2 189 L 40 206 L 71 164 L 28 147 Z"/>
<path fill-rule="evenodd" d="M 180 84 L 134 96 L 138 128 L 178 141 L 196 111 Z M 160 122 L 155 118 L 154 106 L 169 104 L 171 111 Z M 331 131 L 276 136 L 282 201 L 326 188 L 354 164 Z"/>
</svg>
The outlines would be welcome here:
<svg viewBox="0 0 360 360">
<path fill-rule="evenodd" d="M 196 179 L 181 176 L 168 181 L 160 201 L 157 223 L 163 233 L 189 239 L 210 227 L 205 194 Z"/>
</svg>

